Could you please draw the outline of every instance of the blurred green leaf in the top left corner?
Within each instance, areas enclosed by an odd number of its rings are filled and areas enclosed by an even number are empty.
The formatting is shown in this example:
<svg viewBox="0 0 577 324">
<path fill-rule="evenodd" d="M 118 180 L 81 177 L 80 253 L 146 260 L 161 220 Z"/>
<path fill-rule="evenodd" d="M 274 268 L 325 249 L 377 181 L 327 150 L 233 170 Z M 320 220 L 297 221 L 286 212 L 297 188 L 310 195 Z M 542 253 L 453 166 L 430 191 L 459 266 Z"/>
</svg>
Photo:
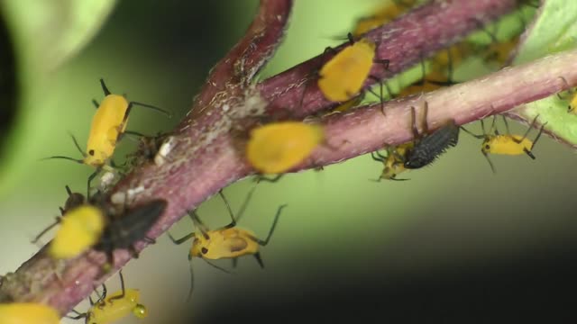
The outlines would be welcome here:
<svg viewBox="0 0 577 324">
<path fill-rule="evenodd" d="M 55 121 L 42 109 L 50 92 L 50 72 L 82 49 L 100 29 L 114 0 L 1 0 L 5 23 L 3 50 L 13 60 L 0 62 L 2 75 L 13 89 L 2 93 L 2 107 L 13 116 L 0 142 L 0 194 L 31 167 L 32 152 L 41 146 L 39 130 Z M 1 25 L 1 24 L 0 24 Z M 2 28 L 2 26 L 0 26 Z M 51 123 L 52 127 L 55 123 Z"/>
</svg>

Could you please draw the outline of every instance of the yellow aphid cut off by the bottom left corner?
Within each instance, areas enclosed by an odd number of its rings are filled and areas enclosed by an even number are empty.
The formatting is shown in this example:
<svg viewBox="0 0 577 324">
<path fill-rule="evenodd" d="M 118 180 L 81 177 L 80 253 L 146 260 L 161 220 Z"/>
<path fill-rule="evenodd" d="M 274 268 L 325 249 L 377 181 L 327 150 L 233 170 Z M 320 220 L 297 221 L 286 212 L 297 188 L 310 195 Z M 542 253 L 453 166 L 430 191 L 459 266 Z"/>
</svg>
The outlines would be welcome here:
<svg viewBox="0 0 577 324">
<path fill-rule="evenodd" d="M 0 304 L 2 324 L 59 324 L 60 314 L 50 306 L 37 302 Z"/>
</svg>

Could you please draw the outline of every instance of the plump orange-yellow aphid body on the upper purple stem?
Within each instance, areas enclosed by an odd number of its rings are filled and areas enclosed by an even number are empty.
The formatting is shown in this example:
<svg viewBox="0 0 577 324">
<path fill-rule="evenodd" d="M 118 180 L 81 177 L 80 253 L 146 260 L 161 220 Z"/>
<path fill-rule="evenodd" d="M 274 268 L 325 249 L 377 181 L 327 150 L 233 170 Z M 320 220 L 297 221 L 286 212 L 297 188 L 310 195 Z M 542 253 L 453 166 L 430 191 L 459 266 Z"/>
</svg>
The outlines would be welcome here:
<svg viewBox="0 0 577 324">
<path fill-rule="evenodd" d="M 325 63 L 319 72 L 318 87 L 326 99 L 345 102 L 359 94 L 371 72 L 375 48 L 371 40 L 359 40 Z"/>
</svg>

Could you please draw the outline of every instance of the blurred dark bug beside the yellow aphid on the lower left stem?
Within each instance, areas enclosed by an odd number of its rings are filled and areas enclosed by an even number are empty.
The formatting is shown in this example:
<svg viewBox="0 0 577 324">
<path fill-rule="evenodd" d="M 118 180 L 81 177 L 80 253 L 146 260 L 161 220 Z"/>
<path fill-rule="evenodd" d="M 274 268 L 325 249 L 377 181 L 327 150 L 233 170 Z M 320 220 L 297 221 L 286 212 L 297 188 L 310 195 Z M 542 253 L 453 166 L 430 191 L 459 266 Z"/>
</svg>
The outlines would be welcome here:
<svg viewBox="0 0 577 324">
<path fill-rule="evenodd" d="M 108 262 L 113 265 L 113 252 L 117 248 L 128 248 L 131 255 L 137 258 L 138 253 L 133 244 L 139 240 L 151 244 L 156 242 L 153 238 L 147 238 L 146 233 L 159 219 L 167 204 L 162 199 L 154 200 L 111 219 L 94 249 L 105 252 Z"/>
</svg>

